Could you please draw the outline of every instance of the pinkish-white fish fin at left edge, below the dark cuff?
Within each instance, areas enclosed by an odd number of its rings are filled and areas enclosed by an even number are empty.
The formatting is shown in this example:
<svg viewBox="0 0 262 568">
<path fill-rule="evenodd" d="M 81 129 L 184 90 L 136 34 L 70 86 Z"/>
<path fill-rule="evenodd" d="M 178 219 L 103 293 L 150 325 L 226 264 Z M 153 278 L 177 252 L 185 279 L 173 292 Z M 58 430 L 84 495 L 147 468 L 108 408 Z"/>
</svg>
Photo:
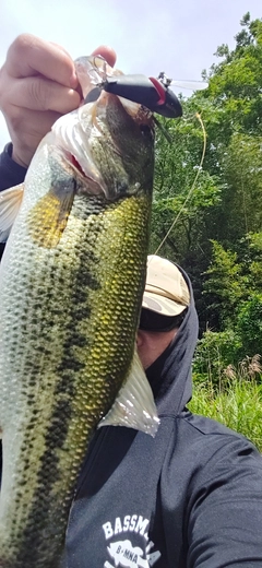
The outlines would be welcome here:
<svg viewBox="0 0 262 568">
<path fill-rule="evenodd" d="M 24 194 L 24 184 L 0 192 L 0 242 L 5 242 L 19 213 Z"/>
</svg>

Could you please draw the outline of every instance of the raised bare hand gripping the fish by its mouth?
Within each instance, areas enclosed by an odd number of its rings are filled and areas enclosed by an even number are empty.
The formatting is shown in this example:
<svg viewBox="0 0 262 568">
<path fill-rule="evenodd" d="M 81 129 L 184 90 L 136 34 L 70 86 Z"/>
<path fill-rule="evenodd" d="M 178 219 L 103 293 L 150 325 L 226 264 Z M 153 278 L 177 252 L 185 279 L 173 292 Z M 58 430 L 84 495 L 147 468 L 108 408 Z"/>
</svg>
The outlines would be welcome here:
<svg viewBox="0 0 262 568">
<path fill-rule="evenodd" d="M 109 47 L 100 46 L 93 55 L 102 55 L 111 67 L 116 62 Z M 27 167 L 53 122 L 78 108 L 81 99 L 70 55 L 51 42 L 20 35 L 0 69 L 0 110 L 13 143 L 12 158 Z"/>
</svg>

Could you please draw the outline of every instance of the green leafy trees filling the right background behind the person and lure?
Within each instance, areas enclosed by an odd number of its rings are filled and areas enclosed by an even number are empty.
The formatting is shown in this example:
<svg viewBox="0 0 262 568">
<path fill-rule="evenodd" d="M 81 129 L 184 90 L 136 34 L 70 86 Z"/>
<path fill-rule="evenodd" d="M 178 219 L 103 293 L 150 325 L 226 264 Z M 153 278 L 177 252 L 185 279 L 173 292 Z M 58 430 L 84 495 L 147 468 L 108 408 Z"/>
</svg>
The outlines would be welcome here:
<svg viewBox="0 0 262 568">
<path fill-rule="evenodd" d="M 155 252 L 168 233 L 159 253 L 191 276 L 201 338 L 225 363 L 261 352 L 262 20 L 247 13 L 240 25 L 235 49 L 219 46 L 203 73 L 209 88 L 181 99 L 182 118 L 162 121 L 174 143 L 158 133 L 151 238 Z"/>
</svg>

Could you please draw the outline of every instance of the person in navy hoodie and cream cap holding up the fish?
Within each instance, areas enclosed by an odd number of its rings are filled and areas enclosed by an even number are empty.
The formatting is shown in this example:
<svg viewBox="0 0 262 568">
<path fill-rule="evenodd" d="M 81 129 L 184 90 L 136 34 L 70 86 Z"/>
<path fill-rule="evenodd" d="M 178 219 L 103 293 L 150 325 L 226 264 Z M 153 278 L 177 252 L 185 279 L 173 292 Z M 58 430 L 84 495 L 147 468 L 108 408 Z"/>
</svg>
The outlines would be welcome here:
<svg viewBox="0 0 262 568">
<path fill-rule="evenodd" d="M 114 63 L 109 48 L 95 52 Z M 79 103 L 69 55 L 20 36 L 0 72 L 12 140 L 0 155 L 0 189 L 23 181 L 41 137 Z M 136 341 L 160 425 L 155 438 L 112 426 L 95 433 L 63 568 L 262 566 L 262 459 L 245 437 L 187 409 L 196 339 L 189 276 L 151 256 Z"/>
</svg>

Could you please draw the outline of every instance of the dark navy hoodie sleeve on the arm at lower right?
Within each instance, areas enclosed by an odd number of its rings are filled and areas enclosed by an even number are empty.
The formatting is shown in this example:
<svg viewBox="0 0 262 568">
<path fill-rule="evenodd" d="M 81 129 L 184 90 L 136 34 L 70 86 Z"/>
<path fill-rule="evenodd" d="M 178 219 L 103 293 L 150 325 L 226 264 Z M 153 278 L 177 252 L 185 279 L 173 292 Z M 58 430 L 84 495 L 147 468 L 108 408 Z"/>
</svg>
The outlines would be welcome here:
<svg viewBox="0 0 262 568">
<path fill-rule="evenodd" d="M 192 480 L 191 568 L 262 566 L 262 458 L 248 440 L 228 438 Z"/>
</svg>

